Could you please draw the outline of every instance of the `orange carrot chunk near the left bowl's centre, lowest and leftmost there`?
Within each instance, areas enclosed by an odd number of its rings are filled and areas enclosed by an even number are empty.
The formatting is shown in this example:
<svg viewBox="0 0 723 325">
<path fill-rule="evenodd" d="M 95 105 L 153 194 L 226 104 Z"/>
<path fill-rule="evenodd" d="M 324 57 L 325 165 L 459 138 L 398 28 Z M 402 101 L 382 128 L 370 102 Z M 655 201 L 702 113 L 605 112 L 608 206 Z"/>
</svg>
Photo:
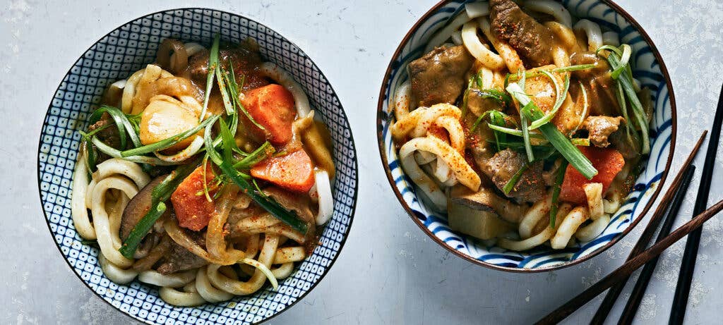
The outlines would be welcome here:
<svg viewBox="0 0 723 325">
<path fill-rule="evenodd" d="M 214 174 L 210 165 L 207 165 L 205 174 L 209 195 L 213 196 L 218 188 L 213 186 Z M 203 186 L 203 166 L 199 166 L 179 184 L 174 194 L 171 194 L 171 203 L 174 204 L 179 226 L 198 231 L 208 225 L 215 205 L 206 199 Z"/>
</svg>

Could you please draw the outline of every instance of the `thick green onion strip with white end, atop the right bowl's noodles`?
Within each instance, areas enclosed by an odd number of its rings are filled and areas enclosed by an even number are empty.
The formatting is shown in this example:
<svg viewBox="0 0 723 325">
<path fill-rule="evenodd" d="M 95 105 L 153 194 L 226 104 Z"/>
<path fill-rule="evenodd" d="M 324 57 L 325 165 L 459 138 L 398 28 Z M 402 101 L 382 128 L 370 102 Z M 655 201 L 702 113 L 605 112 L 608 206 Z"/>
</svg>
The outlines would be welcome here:
<svg viewBox="0 0 723 325">
<path fill-rule="evenodd" d="M 522 89 L 518 84 L 510 84 L 507 90 L 521 105 L 524 105 L 521 110 L 521 116 L 526 116 L 532 120 L 537 120 L 544 116 L 544 113 L 537 108 L 537 105 L 535 105 L 527 95 L 521 92 Z M 590 160 L 588 160 L 587 157 L 580 152 L 580 149 L 575 147 L 556 126 L 551 123 L 544 123 L 539 127 L 539 131 L 542 132 L 547 141 L 560 152 L 562 157 L 565 157 L 565 159 L 570 162 L 570 165 L 573 165 L 585 178 L 591 179 L 594 175 L 597 175 L 597 170 L 593 167 Z"/>
</svg>

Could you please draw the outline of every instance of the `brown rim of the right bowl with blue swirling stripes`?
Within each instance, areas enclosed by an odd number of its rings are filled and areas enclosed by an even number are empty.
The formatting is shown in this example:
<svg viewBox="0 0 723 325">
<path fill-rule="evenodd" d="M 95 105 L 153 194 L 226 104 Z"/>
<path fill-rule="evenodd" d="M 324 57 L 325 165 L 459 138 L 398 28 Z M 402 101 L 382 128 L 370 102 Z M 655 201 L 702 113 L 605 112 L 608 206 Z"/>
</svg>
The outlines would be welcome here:
<svg viewBox="0 0 723 325">
<path fill-rule="evenodd" d="M 389 184 L 392 188 L 392 191 L 394 191 L 394 194 L 397 197 L 397 200 L 402 205 L 404 210 L 407 212 L 407 215 L 409 215 L 409 217 L 411 217 L 411 220 L 413 220 L 414 223 L 420 229 L 422 229 L 422 231 L 424 231 L 424 233 L 427 234 L 427 236 L 429 236 L 429 238 L 432 238 L 433 241 L 435 241 L 437 244 L 439 244 L 440 246 L 447 249 L 447 251 L 450 251 L 452 254 L 455 254 L 456 256 L 461 257 L 462 259 L 470 261 L 473 264 L 477 264 L 482 267 L 487 267 L 489 269 L 496 269 L 496 270 L 503 271 L 503 272 L 513 272 L 513 273 L 549 272 L 549 271 L 554 271 L 557 269 L 565 269 L 566 267 L 572 267 L 573 265 L 583 263 L 584 261 L 588 261 L 589 259 L 592 259 L 593 257 L 597 256 L 598 254 L 602 253 L 603 251 L 606 251 L 608 248 L 615 245 L 615 243 L 617 243 L 618 241 L 623 239 L 623 237 L 625 237 L 625 235 L 628 235 L 628 233 L 630 233 L 630 231 L 633 230 L 633 228 L 635 228 L 636 225 L 638 225 L 638 222 L 641 222 L 641 220 L 643 220 L 643 217 L 645 217 L 645 215 L 649 212 L 650 208 L 655 203 L 655 201 L 658 197 L 658 194 L 660 193 L 660 191 L 662 190 L 662 188 L 665 184 L 665 181 L 667 179 L 667 176 L 668 176 L 668 173 L 670 170 L 670 166 L 672 164 L 673 156 L 675 155 L 675 134 L 677 133 L 677 115 L 676 115 L 676 111 L 675 111 L 675 95 L 673 94 L 672 81 L 670 79 L 670 75 L 668 73 L 667 67 L 665 66 L 663 58 L 660 55 L 655 43 L 653 43 L 653 40 L 650 38 L 648 33 L 643 29 L 643 27 L 633 18 L 633 16 L 631 16 L 627 11 L 625 11 L 625 9 L 623 9 L 622 7 L 617 5 L 612 0 L 599 0 L 599 1 L 602 1 L 604 4 L 607 4 L 613 10 L 615 10 L 615 12 L 617 12 L 617 14 L 622 15 L 623 18 L 625 18 L 625 20 L 627 20 L 630 23 L 630 25 L 632 25 L 633 27 L 636 27 L 636 30 L 638 30 L 638 32 L 640 32 L 641 36 L 643 37 L 643 40 L 645 40 L 646 43 L 648 45 L 650 45 L 651 53 L 653 53 L 653 56 L 655 57 L 657 63 L 659 64 L 660 71 L 662 72 L 663 77 L 665 78 L 665 84 L 668 88 L 668 95 L 670 98 L 670 109 L 671 109 L 671 127 L 672 127 L 671 137 L 670 137 L 669 155 L 668 155 L 668 159 L 665 164 L 665 168 L 663 170 L 662 176 L 660 178 L 660 181 L 659 181 L 658 185 L 656 186 L 656 189 L 653 192 L 652 196 L 650 197 L 648 204 L 646 204 L 645 207 L 643 207 L 643 210 L 640 212 L 638 217 L 636 217 L 634 220 L 631 220 L 630 225 L 628 225 L 628 227 L 625 228 L 625 230 L 623 230 L 623 233 L 620 233 L 619 235 L 615 236 L 615 238 L 612 238 L 612 240 L 609 241 L 604 246 L 597 248 L 596 250 L 592 251 L 590 254 L 586 254 L 579 259 L 575 259 L 573 261 L 565 261 L 564 263 L 556 264 L 555 266 L 552 266 L 552 267 L 539 267 L 539 268 L 534 268 L 534 269 L 520 268 L 520 267 L 501 267 L 499 265 L 491 264 L 486 261 L 480 261 L 479 259 L 474 259 L 472 256 L 469 256 L 467 254 L 463 254 L 461 251 L 457 251 L 455 248 L 450 247 L 449 245 L 444 243 L 440 238 L 437 238 L 437 236 L 435 234 L 433 234 L 431 231 L 429 231 L 429 229 L 424 225 L 424 223 L 416 217 L 416 215 L 412 211 L 411 207 L 409 207 L 409 205 L 404 200 L 401 192 L 396 187 L 394 177 L 392 176 L 391 170 L 387 163 L 388 157 L 386 154 L 386 146 L 384 143 L 384 135 L 383 135 L 384 128 L 382 126 L 382 121 L 384 120 L 386 114 L 384 113 L 383 106 L 385 103 L 385 90 L 387 89 L 388 83 L 390 82 L 390 73 L 395 64 L 395 61 L 396 61 L 395 58 L 398 58 L 398 56 L 401 54 L 401 51 L 403 50 L 404 45 L 406 45 L 406 43 L 408 43 L 411 36 L 414 35 L 414 32 L 416 32 L 416 30 L 419 29 L 419 27 L 422 25 L 422 23 L 426 22 L 429 19 L 429 17 L 432 16 L 432 14 L 435 14 L 437 12 L 437 10 L 439 10 L 442 6 L 445 6 L 446 4 L 450 3 L 451 1 L 453 1 L 453 0 L 441 0 L 441 1 L 437 2 L 437 4 L 435 4 L 434 6 L 432 6 L 431 9 L 429 9 L 427 12 L 425 12 L 424 15 L 422 15 L 422 17 L 419 17 L 419 19 L 416 20 L 414 25 L 412 25 L 412 27 L 408 30 L 406 35 L 404 35 L 404 38 L 402 38 L 402 40 L 400 41 L 396 51 L 394 51 L 392 58 L 390 60 L 390 63 L 384 73 L 384 79 L 382 79 L 382 87 L 380 89 L 379 100 L 377 102 L 377 121 L 376 121 L 377 122 L 377 142 L 379 144 L 379 153 L 380 153 L 380 158 L 381 158 L 381 162 L 382 162 L 382 167 L 384 168 L 385 174 L 387 175 L 387 180 L 389 181 Z"/>
</svg>

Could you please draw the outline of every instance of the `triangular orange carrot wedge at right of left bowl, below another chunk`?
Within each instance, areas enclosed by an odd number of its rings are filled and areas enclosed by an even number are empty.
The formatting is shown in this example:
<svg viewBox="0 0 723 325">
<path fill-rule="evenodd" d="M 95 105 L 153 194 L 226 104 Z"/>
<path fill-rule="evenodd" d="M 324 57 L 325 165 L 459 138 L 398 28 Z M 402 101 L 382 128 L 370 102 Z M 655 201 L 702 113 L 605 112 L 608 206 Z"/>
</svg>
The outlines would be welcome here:
<svg viewBox="0 0 723 325">
<path fill-rule="evenodd" d="M 304 149 L 271 157 L 251 168 L 251 175 L 289 191 L 307 192 L 314 185 L 314 164 Z"/>
</svg>

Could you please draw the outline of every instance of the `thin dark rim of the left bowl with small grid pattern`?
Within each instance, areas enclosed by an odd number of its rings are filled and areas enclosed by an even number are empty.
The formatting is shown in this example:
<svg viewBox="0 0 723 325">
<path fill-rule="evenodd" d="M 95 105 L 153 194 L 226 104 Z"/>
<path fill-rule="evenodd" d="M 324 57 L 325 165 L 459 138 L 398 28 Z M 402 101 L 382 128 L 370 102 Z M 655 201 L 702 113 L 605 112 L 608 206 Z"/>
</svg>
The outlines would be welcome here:
<svg viewBox="0 0 723 325">
<path fill-rule="evenodd" d="M 90 44 L 90 46 L 88 46 L 88 48 L 87 48 L 85 51 L 83 51 L 82 53 L 80 53 L 80 56 L 73 62 L 73 64 L 71 64 L 70 68 L 69 68 L 69 69 L 67 70 L 67 72 L 63 75 L 63 77 L 60 79 L 60 82 L 59 82 L 59 84 L 58 84 L 58 87 L 56 87 L 55 92 L 57 92 L 57 91 L 60 89 L 61 84 L 63 83 L 63 80 L 65 79 L 65 76 L 67 76 L 67 75 L 70 73 L 70 71 L 73 69 L 73 67 L 76 66 L 76 64 L 78 64 L 78 62 L 83 58 L 83 54 L 87 53 L 87 51 L 90 51 L 90 50 L 93 48 L 93 46 L 95 46 L 96 44 L 98 44 L 98 42 L 100 42 L 100 40 L 103 40 L 103 38 L 108 37 L 109 35 L 111 35 L 111 33 L 115 32 L 116 30 L 120 30 L 121 27 L 124 27 L 125 25 L 128 25 L 129 23 L 134 22 L 134 21 L 136 21 L 136 20 L 140 20 L 140 19 L 142 19 L 142 18 L 145 18 L 145 17 L 148 17 L 148 16 L 152 16 L 152 15 L 154 15 L 154 14 L 163 14 L 163 13 L 165 13 L 165 12 L 173 12 L 173 11 L 175 11 L 175 10 L 210 10 L 210 11 L 213 11 L 213 12 L 221 12 L 221 13 L 226 13 L 226 14 L 232 14 L 232 15 L 236 15 L 236 16 L 238 16 L 238 17 L 242 17 L 242 18 L 244 18 L 245 20 L 248 20 L 249 22 L 254 22 L 254 23 L 256 23 L 257 25 L 264 26 L 264 27 L 266 27 L 268 30 L 271 30 L 271 31 L 273 31 L 273 32 L 276 32 L 276 30 L 274 30 L 273 28 L 270 28 L 268 25 L 262 24 L 262 23 L 258 22 L 257 20 L 254 20 L 254 19 L 252 19 L 252 18 L 249 18 L 249 17 L 245 16 L 244 14 L 235 13 L 235 12 L 228 12 L 228 11 L 226 11 L 226 10 L 224 10 L 224 9 L 208 8 L 208 7 L 202 7 L 202 6 L 184 6 L 184 7 L 181 7 L 181 8 L 161 9 L 161 10 L 158 10 L 158 11 L 156 11 L 156 12 L 150 12 L 150 13 L 148 13 L 148 14 L 143 14 L 142 16 L 135 17 L 135 18 L 133 18 L 132 20 L 129 20 L 129 21 L 127 21 L 127 22 L 122 23 L 121 25 L 118 25 L 117 27 L 115 27 L 115 28 L 114 28 L 113 30 L 111 30 L 110 32 L 107 32 L 105 35 L 100 36 L 100 38 L 98 38 L 98 40 L 95 40 L 92 44 Z M 276 32 L 276 33 L 277 33 L 278 35 L 281 35 L 281 33 L 279 33 L 279 32 Z M 312 58 L 311 58 L 306 52 L 304 52 L 304 51 L 301 49 L 301 47 L 299 47 L 299 45 L 296 45 L 296 43 L 294 43 L 293 41 L 291 41 L 291 40 L 289 40 L 288 38 L 286 38 L 286 36 L 281 35 L 281 37 L 283 37 L 284 40 L 287 40 L 288 43 L 290 43 L 291 45 L 296 46 L 296 48 L 299 49 L 299 52 L 304 53 L 304 56 L 306 56 L 307 58 L 309 58 L 309 60 L 312 61 L 312 64 L 316 65 L 316 63 L 314 62 L 314 60 L 312 60 Z M 334 90 L 333 85 L 331 84 L 331 82 L 329 82 L 329 79 L 326 77 L 326 75 L 324 74 L 324 72 L 321 71 L 321 69 L 319 69 L 319 74 L 320 74 L 321 77 L 323 77 L 324 79 L 327 80 L 331 91 L 332 91 L 334 94 L 336 94 L 336 90 Z M 340 102 L 341 102 L 341 100 L 340 100 Z M 340 106 L 341 106 L 341 103 L 340 103 Z M 48 104 L 48 109 L 46 110 L 46 114 L 45 114 L 45 116 L 43 116 L 43 126 L 44 126 L 45 123 L 46 123 L 46 122 L 45 122 L 45 118 L 46 118 L 46 116 L 48 116 L 48 113 L 50 112 L 50 110 L 51 110 L 52 107 L 53 107 L 53 100 L 52 100 L 52 98 L 51 98 L 51 103 Z M 344 112 L 343 106 L 341 106 L 341 107 L 342 107 L 342 113 L 343 113 L 343 115 L 344 115 L 344 118 L 346 119 L 346 121 L 347 121 L 347 123 L 348 123 L 348 117 L 346 116 L 346 112 Z M 350 139 L 350 141 L 351 141 L 351 144 L 354 144 L 354 143 L 355 143 L 355 142 L 354 142 L 354 132 L 351 130 L 351 124 L 349 124 L 349 139 Z M 45 207 L 43 207 L 43 194 L 42 194 L 42 191 L 40 190 L 40 184 L 42 183 L 42 179 L 41 179 L 41 177 L 40 177 L 40 173 L 42 172 L 42 170 L 40 170 L 40 153 L 41 153 L 41 152 L 40 152 L 40 147 L 41 147 L 42 145 L 43 145 L 43 129 L 40 129 L 40 136 L 38 136 L 38 155 L 36 156 L 36 157 L 37 157 L 37 160 L 38 160 L 38 163 L 37 163 L 37 165 L 36 165 L 36 168 L 37 168 L 37 171 L 38 171 L 38 198 L 40 199 L 40 210 L 42 210 L 42 212 L 43 212 L 43 217 L 44 217 L 43 220 L 46 222 L 46 226 L 48 227 L 48 233 L 51 235 L 51 238 L 53 239 L 53 243 L 55 244 L 56 248 L 58 248 L 59 253 L 60 253 L 61 256 L 63 257 L 63 261 L 65 261 L 65 263 L 66 263 L 67 266 L 69 267 L 70 272 L 71 272 L 72 274 L 74 274 L 75 277 L 77 277 L 77 279 L 80 280 L 80 282 L 81 282 L 83 285 L 85 285 L 85 287 L 87 287 L 87 289 L 90 290 L 90 292 L 93 293 L 96 297 L 98 297 L 101 301 L 103 301 L 104 303 L 108 304 L 108 306 L 111 306 L 111 308 L 115 309 L 115 310 L 118 311 L 119 313 L 121 313 L 121 314 L 129 317 L 130 319 L 133 319 L 134 321 L 141 321 L 141 322 L 143 322 L 143 323 L 147 323 L 147 319 L 137 319 L 136 317 L 134 317 L 133 315 L 131 315 L 129 312 L 122 311 L 120 307 L 113 306 L 113 304 L 112 304 L 110 301 L 106 300 L 105 298 L 103 298 L 103 296 L 101 296 L 99 293 L 97 293 L 95 290 L 93 290 L 93 288 L 90 287 L 90 285 L 88 285 L 88 283 L 87 283 L 85 280 L 83 280 L 82 277 L 80 277 L 80 274 L 78 274 L 77 272 L 75 272 L 74 267 L 70 264 L 70 261 L 68 261 L 68 259 L 66 258 L 66 254 L 63 253 L 60 244 L 55 240 L 55 238 L 54 238 L 54 231 L 53 231 L 53 229 L 51 228 L 50 221 L 48 220 L 48 214 L 46 213 Z M 359 169 L 359 161 L 357 160 L 356 146 L 354 146 L 354 157 L 353 157 L 353 158 L 354 158 L 354 159 L 353 159 L 353 161 L 354 161 L 354 167 L 358 170 L 358 169 Z M 75 172 L 73 171 L 73 173 L 75 173 Z M 70 192 L 69 192 L 69 193 L 70 193 Z M 274 313 L 273 315 L 271 315 L 271 316 L 269 316 L 269 317 L 267 317 L 267 318 L 265 318 L 265 319 L 262 319 L 262 320 L 260 320 L 260 321 L 258 321 L 258 322 L 251 323 L 251 324 L 262 324 L 262 323 L 264 323 L 264 322 L 266 322 L 266 321 L 269 321 L 270 319 L 275 318 L 275 317 L 278 316 L 278 315 L 281 315 L 281 313 L 283 313 L 283 312 L 285 312 L 285 311 L 288 311 L 289 309 L 291 309 L 291 307 L 295 306 L 296 303 L 299 303 L 299 301 L 303 300 L 309 293 L 312 292 L 312 290 L 314 290 L 314 288 L 315 288 L 317 285 L 319 285 L 319 284 L 321 283 L 322 280 L 324 280 L 324 278 L 326 277 L 326 275 L 329 274 L 331 268 L 334 266 L 335 262 L 336 262 L 337 259 L 339 258 L 339 255 L 341 254 L 341 251 L 342 251 L 342 249 L 343 249 L 343 247 L 344 247 L 344 244 L 346 243 L 346 240 L 348 239 L 348 235 L 349 235 L 349 233 L 350 233 L 350 231 L 351 231 L 351 225 L 354 224 L 354 213 L 356 212 L 356 202 L 358 201 L 358 199 L 359 199 L 359 176 L 357 175 L 357 177 L 356 177 L 356 182 L 354 182 L 354 195 L 352 196 L 352 201 L 353 201 L 353 202 L 352 202 L 352 204 L 351 204 L 351 213 L 350 213 L 350 217 L 349 217 L 349 225 L 348 225 L 347 228 L 346 228 L 346 235 L 344 235 L 343 238 L 341 239 L 341 241 L 339 242 L 339 248 L 338 248 L 338 251 L 336 252 L 336 256 L 335 256 L 333 259 L 331 259 L 331 262 L 330 262 L 329 266 L 326 268 L 326 272 L 324 272 L 324 274 L 322 274 L 316 282 L 312 283 L 312 285 L 309 287 L 309 289 L 308 289 L 305 293 L 301 294 L 301 295 L 299 296 L 299 298 L 296 298 L 296 300 L 294 301 L 294 303 L 289 304 L 288 306 L 286 306 L 286 308 L 283 308 L 281 311 L 278 311 L 278 312 Z M 296 267 L 294 267 L 294 268 L 296 269 Z M 134 281 L 137 281 L 137 280 L 134 280 Z M 205 306 L 205 305 L 208 305 L 208 303 L 205 303 L 205 304 L 202 305 L 202 306 Z M 193 307 L 191 307 L 191 308 L 199 308 L 199 306 L 193 306 Z M 228 307 L 223 307 L 223 308 L 228 308 Z"/>
</svg>

